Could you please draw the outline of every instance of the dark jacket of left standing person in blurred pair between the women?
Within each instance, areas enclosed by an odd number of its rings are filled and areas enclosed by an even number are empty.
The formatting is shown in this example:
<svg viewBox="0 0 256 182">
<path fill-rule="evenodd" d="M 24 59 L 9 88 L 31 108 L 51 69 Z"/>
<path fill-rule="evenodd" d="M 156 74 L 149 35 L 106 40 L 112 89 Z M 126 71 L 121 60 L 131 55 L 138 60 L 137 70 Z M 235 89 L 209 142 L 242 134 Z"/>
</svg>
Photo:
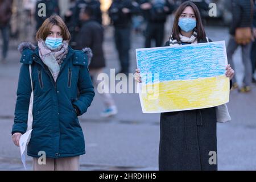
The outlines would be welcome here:
<svg viewBox="0 0 256 182">
<path fill-rule="evenodd" d="M 123 8 L 129 9 L 130 13 L 122 13 Z M 114 0 L 109 7 L 108 13 L 114 27 L 130 27 L 131 16 L 139 13 L 139 5 L 132 0 Z"/>
</svg>

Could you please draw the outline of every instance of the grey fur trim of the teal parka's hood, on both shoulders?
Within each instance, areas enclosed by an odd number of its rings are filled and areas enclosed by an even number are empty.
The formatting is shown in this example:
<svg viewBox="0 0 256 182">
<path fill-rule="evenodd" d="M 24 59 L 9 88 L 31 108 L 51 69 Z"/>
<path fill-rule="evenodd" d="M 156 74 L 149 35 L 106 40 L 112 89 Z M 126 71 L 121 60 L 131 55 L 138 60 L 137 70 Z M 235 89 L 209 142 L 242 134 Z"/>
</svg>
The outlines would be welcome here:
<svg viewBox="0 0 256 182">
<path fill-rule="evenodd" d="M 31 51 L 35 51 L 36 46 L 34 44 L 32 44 L 31 42 L 22 42 L 19 44 L 18 46 L 18 51 L 20 53 L 22 53 L 24 51 L 24 49 L 31 49 Z M 90 61 L 92 60 L 92 49 L 90 49 L 89 47 L 85 47 L 82 49 L 82 52 L 84 52 L 87 57 L 88 57 L 88 65 L 90 64 Z"/>
</svg>

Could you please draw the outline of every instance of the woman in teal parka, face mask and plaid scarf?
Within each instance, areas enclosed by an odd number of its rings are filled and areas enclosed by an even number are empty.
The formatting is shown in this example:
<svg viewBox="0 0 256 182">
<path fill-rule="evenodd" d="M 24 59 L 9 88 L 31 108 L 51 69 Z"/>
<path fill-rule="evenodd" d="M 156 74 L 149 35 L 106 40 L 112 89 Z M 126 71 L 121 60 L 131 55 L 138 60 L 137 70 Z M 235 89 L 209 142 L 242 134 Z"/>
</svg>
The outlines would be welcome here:
<svg viewBox="0 0 256 182">
<path fill-rule="evenodd" d="M 86 112 L 93 97 L 88 65 L 89 48 L 82 51 L 68 46 L 70 33 L 60 16 L 46 19 L 36 33 L 38 47 L 22 43 L 13 142 L 27 130 L 31 94 L 29 65 L 34 89 L 33 124 L 27 155 L 34 170 L 78 170 L 79 156 L 85 154 L 84 134 L 77 116 Z M 77 91 L 79 90 L 79 96 Z M 40 151 L 46 164 L 39 164 Z"/>
</svg>

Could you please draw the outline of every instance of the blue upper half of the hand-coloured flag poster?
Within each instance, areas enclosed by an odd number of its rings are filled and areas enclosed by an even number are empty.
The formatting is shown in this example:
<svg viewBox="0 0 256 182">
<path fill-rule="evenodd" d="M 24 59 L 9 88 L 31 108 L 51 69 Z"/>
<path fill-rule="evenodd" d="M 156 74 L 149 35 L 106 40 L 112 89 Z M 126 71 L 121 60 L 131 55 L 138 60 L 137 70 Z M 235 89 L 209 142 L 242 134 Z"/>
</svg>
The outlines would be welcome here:
<svg viewBox="0 0 256 182">
<path fill-rule="evenodd" d="M 160 82 L 224 75 L 224 48 L 223 42 L 214 42 L 193 46 L 138 49 L 138 68 L 141 73 L 159 73 Z M 142 81 L 146 80 L 142 77 Z"/>
</svg>

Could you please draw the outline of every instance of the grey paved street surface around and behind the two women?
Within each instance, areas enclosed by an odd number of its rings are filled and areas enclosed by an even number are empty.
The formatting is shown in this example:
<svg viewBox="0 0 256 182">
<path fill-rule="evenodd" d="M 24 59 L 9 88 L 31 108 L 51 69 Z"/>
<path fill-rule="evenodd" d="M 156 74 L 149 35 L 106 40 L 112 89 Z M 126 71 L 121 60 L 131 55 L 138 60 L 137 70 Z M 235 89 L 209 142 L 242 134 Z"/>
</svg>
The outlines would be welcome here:
<svg viewBox="0 0 256 182">
<path fill-rule="evenodd" d="M 168 26 L 167 26 L 168 29 Z M 214 41 L 229 38 L 228 29 L 207 27 Z M 167 32 L 170 32 L 167 31 Z M 104 42 L 108 67 L 118 71 L 118 57 L 113 42 L 113 30 L 106 30 Z M 166 38 L 168 39 L 168 34 Z M 135 48 L 143 47 L 143 37 L 133 35 L 131 71 L 136 68 Z M 236 74 L 241 84 L 243 67 L 241 50 L 234 55 Z M 9 52 L 8 63 L 0 65 L 0 170 L 23 170 L 18 148 L 11 142 L 19 75 L 19 53 Z M 86 155 L 81 156 L 82 170 L 157 170 L 159 146 L 159 114 L 142 114 L 138 94 L 113 94 L 119 113 L 112 118 L 100 118 L 104 109 L 96 93 L 88 112 L 80 117 L 85 134 Z M 220 170 L 256 169 L 256 86 L 246 94 L 234 90 L 228 104 L 232 122 L 218 123 L 218 168 Z M 31 168 L 31 158 L 28 158 Z"/>
</svg>

